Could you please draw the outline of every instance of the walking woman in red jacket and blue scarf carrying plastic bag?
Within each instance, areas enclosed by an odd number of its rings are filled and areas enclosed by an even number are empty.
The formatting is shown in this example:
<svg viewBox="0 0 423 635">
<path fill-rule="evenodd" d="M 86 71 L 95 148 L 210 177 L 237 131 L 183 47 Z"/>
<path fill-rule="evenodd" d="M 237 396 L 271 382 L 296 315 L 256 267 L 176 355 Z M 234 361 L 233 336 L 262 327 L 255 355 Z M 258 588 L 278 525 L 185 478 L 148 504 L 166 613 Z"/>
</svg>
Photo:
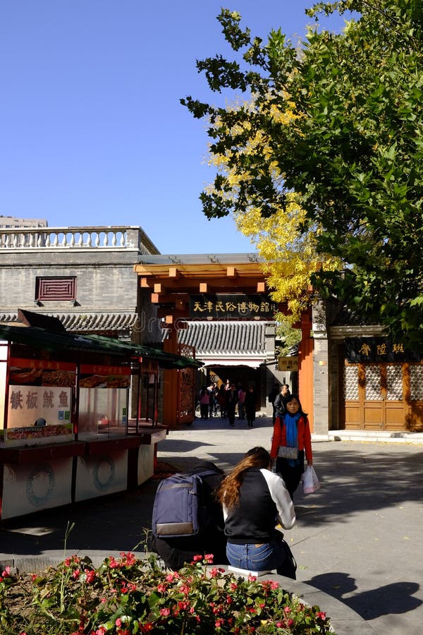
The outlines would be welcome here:
<svg viewBox="0 0 423 635">
<path fill-rule="evenodd" d="M 298 395 L 292 394 L 286 401 L 286 413 L 283 417 L 276 417 L 270 451 L 271 458 L 276 459 L 276 472 L 285 481 L 291 500 L 294 500 L 294 492 L 304 472 L 304 455 L 307 465 L 312 465 L 309 421 L 302 411 Z"/>
</svg>

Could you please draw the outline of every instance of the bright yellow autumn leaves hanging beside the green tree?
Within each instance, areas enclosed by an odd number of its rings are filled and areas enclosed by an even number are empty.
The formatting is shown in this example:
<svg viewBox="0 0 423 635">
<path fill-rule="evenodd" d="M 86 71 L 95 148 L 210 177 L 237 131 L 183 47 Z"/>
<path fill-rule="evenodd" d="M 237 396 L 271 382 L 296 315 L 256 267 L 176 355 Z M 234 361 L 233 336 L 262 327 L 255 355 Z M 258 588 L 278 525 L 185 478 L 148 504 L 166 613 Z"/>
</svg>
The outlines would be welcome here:
<svg viewBox="0 0 423 635">
<path fill-rule="evenodd" d="M 286 97 L 286 96 L 285 96 Z M 283 126 L 295 124 L 295 116 L 289 109 L 279 111 L 276 105 L 266 104 L 266 116 L 270 116 L 276 123 Z M 254 112 L 257 103 L 254 99 L 250 102 L 238 102 L 227 107 L 227 111 L 236 111 L 243 108 Z M 215 126 L 219 128 L 222 122 L 216 120 Z M 247 140 L 242 147 L 236 148 L 236 154 L 240 157 L 255 155 L 261 157 L 262 174 L 271 176 L 272 181 L 283 187 L 283 174 L 278 171 L 278 166 L 273 160 L 274 152 L 265 131 L 252 131 L 249 121 L 236 123 L 231 131 L 226 130 L 232 138 L 248 132 Z M 209 158 L 209 164 L 214 165 L 218 171 L 226 177 L 224 194 L 220 196 L 228 200 L 235 199 L 243 182 L 255 178 L 248 169 L 240 166 L 243 162 L 233 162 L 234 152 L 227 150 L 225 153 L 214 152 Z M 256 162 L 257 164 L 257 162 Z M 214 186 L 207 188 L 207 193 L 214 193 Z M 326 270 L 336 269 L 339 263 L 333 258 L 317 253 L 316 236 L 318 227 L 304 231 L 305 211 L 300 206 L 300 193 L 286 194 L 286 204 L 281 207 L 274 205 L 274 214 L 263 217 L 259 202 L 250 201 L 250 205 L 243 212 L 235 212 L 234 218 L 238 230 L 250 237 L 257 248 L 259 255 L 264 259 L 263 270 L 267 275 L 267 283 L 271 289 L 271 297 L 278 303 L 286 304 L 287 315 L 281 320 L 293 325 L 300 318 L 302 311 L 312 301 L 310 294 L 310 276 L 318 267 Z"/>
</svg>

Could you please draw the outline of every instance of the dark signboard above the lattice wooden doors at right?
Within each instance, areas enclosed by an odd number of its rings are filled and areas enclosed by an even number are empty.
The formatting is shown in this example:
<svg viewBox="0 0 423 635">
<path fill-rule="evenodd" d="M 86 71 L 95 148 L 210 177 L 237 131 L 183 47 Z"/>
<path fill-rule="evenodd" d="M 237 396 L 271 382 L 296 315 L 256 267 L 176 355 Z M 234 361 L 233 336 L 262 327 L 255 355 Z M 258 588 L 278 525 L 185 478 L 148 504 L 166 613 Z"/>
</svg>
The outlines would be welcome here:
<svg viewBox="0 0 423 635">
<path fill-rule="evenodd" d="M 345 339 L 345 356 L 350 363 L 415 362 L 422 358 L 386 337 L 349 337 Z"/>
</svg>

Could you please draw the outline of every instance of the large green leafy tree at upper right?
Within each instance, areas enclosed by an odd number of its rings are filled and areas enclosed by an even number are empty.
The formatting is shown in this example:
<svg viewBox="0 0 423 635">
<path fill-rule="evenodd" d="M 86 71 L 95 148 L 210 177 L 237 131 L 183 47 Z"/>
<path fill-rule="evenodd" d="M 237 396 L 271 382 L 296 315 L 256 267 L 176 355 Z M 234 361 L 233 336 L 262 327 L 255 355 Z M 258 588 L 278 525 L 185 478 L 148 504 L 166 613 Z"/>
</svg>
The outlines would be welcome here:
<svg viewBox="0 0 423 635">
<path fill-rule="evenodd" d="M 263 43 L 240 28 L 238 13 L 221 12 L 237 59 L 215 56 L 197 68 L 212 90 L 244 92 L 255 107 L 182 100 L 209 118 L 212 155 L 226 155 L 243 177 L 234 191 L 217 174 L 201 195 L 204 213 L 236 217 L 253 207 L 270 217 L 295 192 L 300 231 L 318 228 L 317 253 L 343 263 L 312 274 L 321 296 L 348 301 L 360 319 L 422 348 L 423 5 L 341 0 L 307 13 L 336 11 L 354 12 L 341 34 L 309 28 L 300 45 L 281 30 Z M 257 133 L 268 151 L 245 152 Z"/>
</svg>

